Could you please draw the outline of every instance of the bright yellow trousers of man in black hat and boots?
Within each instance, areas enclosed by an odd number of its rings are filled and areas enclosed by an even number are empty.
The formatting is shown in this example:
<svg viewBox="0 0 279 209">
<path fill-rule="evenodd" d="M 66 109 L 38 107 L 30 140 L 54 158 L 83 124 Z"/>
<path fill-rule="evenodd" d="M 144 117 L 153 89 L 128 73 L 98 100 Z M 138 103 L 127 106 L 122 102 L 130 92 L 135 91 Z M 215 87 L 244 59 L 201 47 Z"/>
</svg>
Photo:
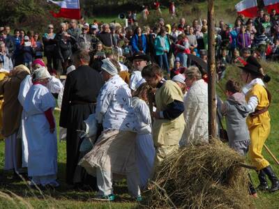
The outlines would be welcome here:
<svg viewBox="0 0 279 209">
<path fill-rule="evenodd" d="M 262 148 L 271 130 L 270 123 L 265 123 L 264 125 L 260 123 L 255 125 L 250 129 L 250 146 L 248 150 L 248 155 L 252 161 L 252 165 L 257 167 L 257 170 L 262 170 L 269 166 L 269 162 L 264 159 L 262 155 Z"/>
</svg>

